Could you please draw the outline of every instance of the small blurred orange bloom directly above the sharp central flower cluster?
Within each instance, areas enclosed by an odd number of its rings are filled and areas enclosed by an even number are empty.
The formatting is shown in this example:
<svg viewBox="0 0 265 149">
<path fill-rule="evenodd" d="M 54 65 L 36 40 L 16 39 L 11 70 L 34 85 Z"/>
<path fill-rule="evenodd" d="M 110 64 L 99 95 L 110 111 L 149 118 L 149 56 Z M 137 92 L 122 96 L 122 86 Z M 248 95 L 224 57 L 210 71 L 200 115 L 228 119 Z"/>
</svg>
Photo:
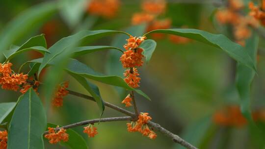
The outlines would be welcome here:
<svg viewBox="0 0 265 149">
<path fill-rule="evenodd" d="M 140 25 L 143 23 L 150 23 L 154 21 L 155 16 L 145 12 L 134 13 L 132 16 L 132 25 Z"/>
</svg>

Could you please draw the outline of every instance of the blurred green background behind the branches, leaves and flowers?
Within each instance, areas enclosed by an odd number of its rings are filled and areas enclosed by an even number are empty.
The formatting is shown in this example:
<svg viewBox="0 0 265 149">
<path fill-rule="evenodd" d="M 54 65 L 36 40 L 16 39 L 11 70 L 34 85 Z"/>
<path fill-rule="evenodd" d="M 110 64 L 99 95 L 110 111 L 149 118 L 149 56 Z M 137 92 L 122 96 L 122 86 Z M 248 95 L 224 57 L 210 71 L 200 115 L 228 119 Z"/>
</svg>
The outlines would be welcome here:
<svg viewBox="0 0 265 149">
<path fill-rule="evenodd" d="M 87 2 L 87 0 L 1 0 L 0 34 L 4 37 L 11 36 L 13 41 L 10 41 L 9 45 L 12 43 L 21 45 L 29 37 L 44 33 L 48 46 L 51 46 L 59 39 L 81 29 L 126 30 L 131 26 L 133 13 L 141 11 L 140 0 L 121 0 L 116 16 L 106 19 L 87 13 L 85 1 Z M 19 34 L 7 32 L 6 26 L 16 16 L 43 3 L 49 3 L 46 6 L 51 7 L 49 13 L 37 17 L 27 28 L 21 28 Z M 53 6 L 55 9 L 52 8 Z M 35 11 L 39 9 L 41 8 Z M 160 17 L 170 18 L 172 27 L 188 26 L 212 33 L 226 34 L 221 29 L 222 26 L 216 25 L 212 17 L 215 10 L 216 7 L 210 0 L 205 2 L 204 0 L 193 0 L 193 2 L 170 0 L 166 12 Z M 31 15 L 34 15 L 34 12 Z M 17 22 L 17 27 L 27 20 L 26 17 L 25 20 L 23 18 Z M 138 28 L 141 27 L 138 26 Z M 133 33 L 136 31 L 139 30 L 136 29 Z M 117 36 L 99 39 L 92 45 L 111 45 L 115 38 Z M 216 124 L 213 121 L 216 111 L 229 105 L 237 106 L 239 103 L 235 85 L 236 62 L 223 51 L 196 41 L 187 44 L 175 44 L 168 38 L 156 41 L 157 49 L 151 61 L 139 69 L 141 76 L 139 89 L 152 101 L 136 95 L 139 110 L 150 113 L 154 122 L 179 134 L 201 149 L 261 149 L 255 142 L 258 136 L 251 135 L 251 129 L 247 124 L 227 126 Z M 263 111 L 265 106 L 265 57 L 263 55 L 265 44 L 263 39 L 260 39 L 259 53 L 257 71 L 259 75 L 255 76 L 252 85 L 253 111 Z M 38 56 L 34 52 L 27 52 L 13 59 L 13 70 L 17 71 L 22 63 Z M 109 64 L 113 61 L 111 56 L 113 52 L 109 50 L 86 54 L 78 59 L 98 72 L 117 73 L 113 71 L 117 69 L 115 64 L 121 64 L 119 59 L 114 59 L 116 63 Z M 89 95 L 72 77 L 65 75 L 64 80 L 70 81 L 70 90 Z M 125 95 L 121 94 L 120 89 L 92 82 L 99 86 L 104 100 L 124 107 L 121 101 Z M 16 101 L 19 96 L 20 93 L 0 89 L 0 102 Z M 92 101 L 68 95 L 63 104 L 62 107 L 52 108 L 49 111 L 48 122 L 66 125 L 99 118 L 98 107 Z M 129 109 L 133 110 L 131 107 Z M 103 117 L 114 116 L 122 116 L 122 114 L 106 107 Z M 263 122 L 259 124 L 265 128 Z M 140 133 L 129 133 L 126 122 L 100 123 L 96 126 L 99 134 L 95 138 L 88 138 L 82 133 L 82 127 L 74 128 L 85 138 L 90 149 L 182 149 L 160 133 L 156 140 L 143 137 Z M 65 149 L 48 143 L 46 143 L 46 148 Z"/>
</svg>

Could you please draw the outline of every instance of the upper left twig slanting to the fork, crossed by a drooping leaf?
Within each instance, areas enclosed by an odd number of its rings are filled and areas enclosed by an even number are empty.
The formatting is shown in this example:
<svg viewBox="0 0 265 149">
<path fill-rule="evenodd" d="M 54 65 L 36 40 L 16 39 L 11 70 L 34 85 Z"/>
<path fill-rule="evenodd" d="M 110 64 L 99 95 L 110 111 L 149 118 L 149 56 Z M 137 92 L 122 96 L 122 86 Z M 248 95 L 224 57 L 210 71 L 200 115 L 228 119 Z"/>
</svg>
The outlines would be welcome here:
<svg viewBox="0 0 265 149">
<path fill-rule="evenodd" d="M 75 91 L 71 91 L 71 90 L 67 90 L 67 91 L 68 91 L 69 94 L 71 94 L 71 95 L 74 95 L 74 96 L 77 96 L 77 97 L 81 97 L 81 98 L 84 98 L 84 99 L 89 99 L 89 100 L 92 100 L 92 101 L 96 101 L 96 100 L 95 100 L 93 97 L 91 97 L 91 96 L 84 95 L 84 94 L 81 94 L 81 93 L 78 93 L 78 92 L 75 92 Z M 128 110 L 125 110 L 125 109 L 123 109 L 123 108 L 121 108 L 121 107 L 118 107 L 118 106 L 116 106 L 116 105 L 114 105 L 114 104 L 112 104 L 112 103 L 106 102 L 106 101 L 103 101 L 103 103 L 104 103 L 104 105 L 106 105 L 106 106 L 109 107 L 109 108 L 115 109 L 115 110 L 117 110 L 117 111 L 119 111 L 119 112 L 121 112 L 121 113 L 123 113 L 123 114 L 129 115 L 129 116 L 135 118 L 134 113 L 132 113 L 132 112 L 130 112 L 130 111 L 128 111 Z"/>
</svg>

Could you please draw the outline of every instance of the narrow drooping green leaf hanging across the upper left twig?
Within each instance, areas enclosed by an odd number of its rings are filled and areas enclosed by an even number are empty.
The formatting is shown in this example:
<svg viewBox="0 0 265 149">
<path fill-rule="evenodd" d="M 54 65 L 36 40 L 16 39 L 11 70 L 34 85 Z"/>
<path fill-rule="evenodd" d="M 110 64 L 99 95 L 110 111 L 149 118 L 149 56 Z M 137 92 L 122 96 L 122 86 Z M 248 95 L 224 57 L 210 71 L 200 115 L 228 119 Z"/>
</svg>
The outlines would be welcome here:
<svg viewBox="0 0 265 149">
<path fill-rule="evenodd" d="M 100 96 L 99 89 L 96 85 L 90 83 L 88 80 L 86 80 L 84 77 L 68 72 L 70 75 L 72 75 L 95 99 L 97 102 L 99 109 L 101 111 L 101 114 L 103 114 L 103 111 L 105 109 L 104 102 Z"/>
</svg>

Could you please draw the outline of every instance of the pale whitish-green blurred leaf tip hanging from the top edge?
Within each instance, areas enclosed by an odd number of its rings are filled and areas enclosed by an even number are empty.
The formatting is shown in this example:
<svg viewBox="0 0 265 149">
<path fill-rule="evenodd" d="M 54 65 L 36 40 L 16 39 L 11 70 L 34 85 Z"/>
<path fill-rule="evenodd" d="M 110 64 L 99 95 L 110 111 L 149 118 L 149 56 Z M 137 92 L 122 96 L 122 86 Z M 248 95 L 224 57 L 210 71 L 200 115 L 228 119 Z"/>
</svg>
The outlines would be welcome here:
<svg viewBox="0 0 265 149">
<path fill-rule="evenodd" d="M 60 0 L 60 15 L 69 27 L 80 23 L 88 2 L 89 0 Z"/>
</svg>

